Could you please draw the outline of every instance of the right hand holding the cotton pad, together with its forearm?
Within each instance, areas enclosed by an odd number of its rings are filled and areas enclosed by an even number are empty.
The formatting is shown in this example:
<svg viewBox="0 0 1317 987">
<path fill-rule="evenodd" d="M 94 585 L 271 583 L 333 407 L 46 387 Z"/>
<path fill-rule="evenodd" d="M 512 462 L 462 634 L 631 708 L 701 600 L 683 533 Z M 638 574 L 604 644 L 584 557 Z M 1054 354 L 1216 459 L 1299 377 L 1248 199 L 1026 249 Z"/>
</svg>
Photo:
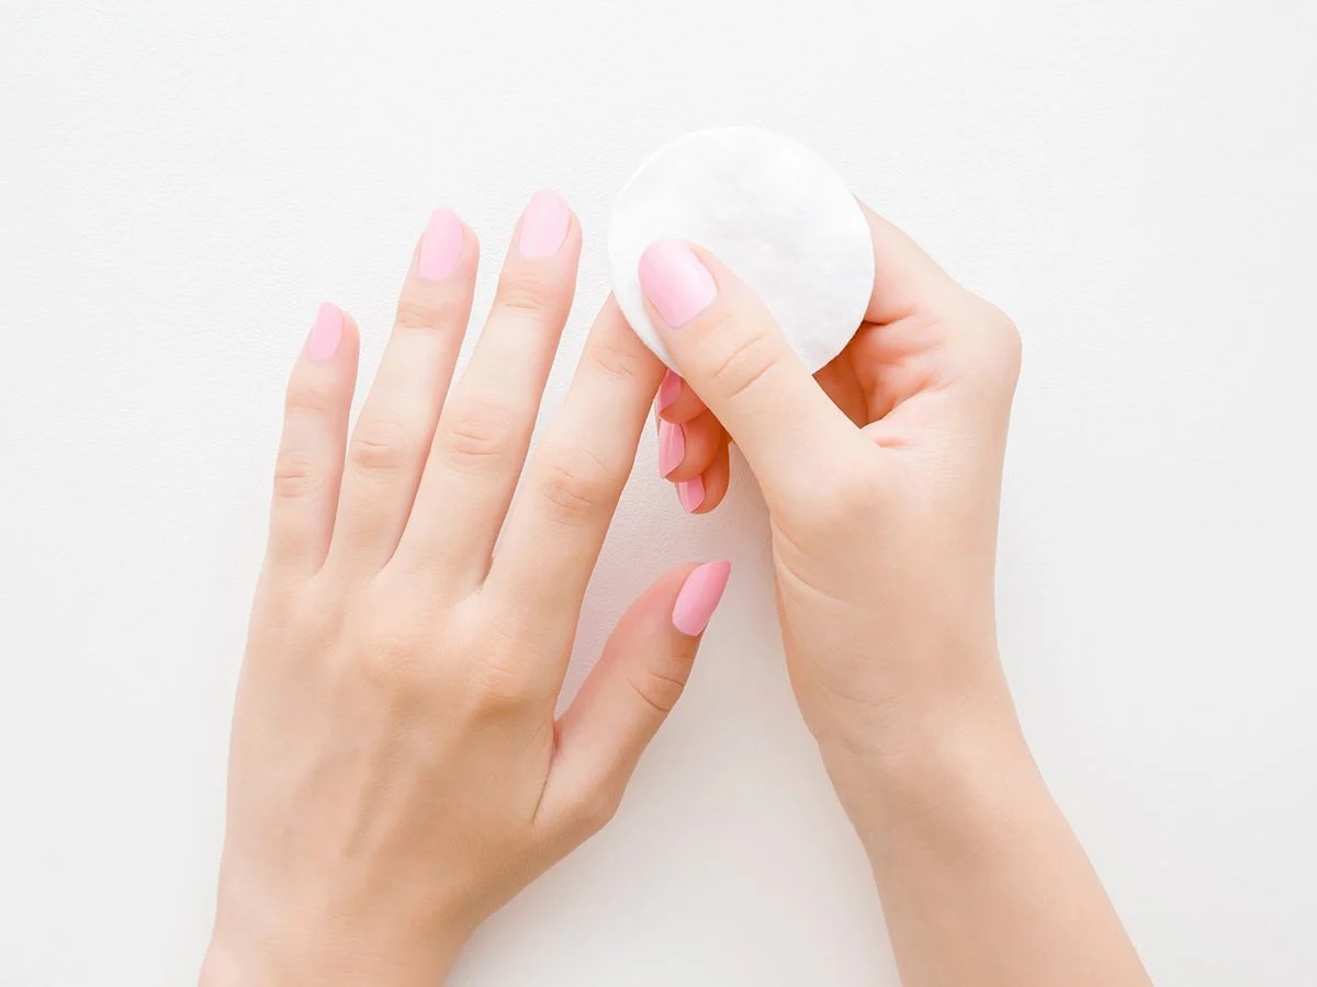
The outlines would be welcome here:
<svg viewBox="0 0 1317 987">
<path fill-rule="evenodd" d="M 873 865 L 902 982 L 1147 984 L 997 657 L 1019 337 L 867 215 L 865 322 L 818 382 L 716 258 L 676 241 L 643 255 L 685 378 L 660 387 L 661 468 L 687 511 L 709 511 L 730 437 L 759 480 L 792 683 Z"/>
</svg>

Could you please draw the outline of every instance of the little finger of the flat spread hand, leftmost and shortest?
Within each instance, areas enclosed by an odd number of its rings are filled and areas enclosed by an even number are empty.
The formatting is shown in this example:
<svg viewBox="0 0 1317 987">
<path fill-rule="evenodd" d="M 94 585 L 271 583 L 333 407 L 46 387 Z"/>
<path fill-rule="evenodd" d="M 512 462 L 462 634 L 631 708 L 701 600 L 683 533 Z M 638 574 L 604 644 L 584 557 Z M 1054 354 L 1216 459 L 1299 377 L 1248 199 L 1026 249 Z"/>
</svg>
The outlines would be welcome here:
<svg viewBox="0 0 1317 987">
<path fill-rule="evenodd" d="M 281 575 L 313 574 L 329 549 L 357 350 L 357 324 L 323 303 L 284 399 L 266 557 L 267 567 Z"/>
</svg>

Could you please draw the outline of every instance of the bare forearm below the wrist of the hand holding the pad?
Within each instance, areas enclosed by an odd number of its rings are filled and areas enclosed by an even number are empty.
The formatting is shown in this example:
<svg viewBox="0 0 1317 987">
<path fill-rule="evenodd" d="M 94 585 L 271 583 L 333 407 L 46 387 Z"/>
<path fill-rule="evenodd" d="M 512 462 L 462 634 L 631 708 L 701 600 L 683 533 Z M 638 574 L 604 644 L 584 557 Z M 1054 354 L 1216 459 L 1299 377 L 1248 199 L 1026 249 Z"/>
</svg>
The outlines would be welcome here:
<svg viewBox="0 0 1317 987">
<path fill-rule="evenodd" d="M 1148 984 L 1011 713 L 824 750 L 906 987 Z"/>
</svg>

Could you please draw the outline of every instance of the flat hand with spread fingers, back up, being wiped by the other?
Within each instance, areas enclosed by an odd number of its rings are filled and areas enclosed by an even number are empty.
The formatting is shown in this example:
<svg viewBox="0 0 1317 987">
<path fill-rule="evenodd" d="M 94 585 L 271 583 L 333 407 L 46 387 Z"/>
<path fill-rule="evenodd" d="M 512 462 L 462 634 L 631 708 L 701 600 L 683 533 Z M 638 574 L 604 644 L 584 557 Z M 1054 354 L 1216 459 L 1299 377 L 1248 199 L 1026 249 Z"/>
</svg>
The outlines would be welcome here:
<svg viewBox="0 0 1317 987">
<path fill-rule="evenodd" d="M 662 576 L 553 716 L 662 371 L 610 300 L 512 504 L 579 250 L 566 204 L 536 195 L 449 391 L 478 246 L 436 212 L 350 442 L 357 328 L 320 308 L 288 384 L 203 984 L 437 983 L 608 820 L 677 701 L 726 563 Z"/>
</svg>

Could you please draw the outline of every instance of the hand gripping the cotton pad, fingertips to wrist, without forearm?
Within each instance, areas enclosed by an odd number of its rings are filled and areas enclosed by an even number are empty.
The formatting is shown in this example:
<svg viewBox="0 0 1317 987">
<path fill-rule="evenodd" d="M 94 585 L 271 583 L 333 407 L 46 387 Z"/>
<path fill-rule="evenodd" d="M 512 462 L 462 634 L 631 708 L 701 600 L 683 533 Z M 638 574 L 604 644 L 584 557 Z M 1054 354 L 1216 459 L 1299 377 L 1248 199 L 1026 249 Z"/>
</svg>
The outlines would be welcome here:
<svg viewBox="0 0 1317 987">
<path fill-rule="evenodd" d="M 826 755 L 890 755 L 911 726 L 1013 721 L 993 566 L 1019 336 L 865 215 L 865 322 L 817 383 L 716 258 L 662 242 L 640 265 L 685 375 L 658 391 L 660 468 L 687 509 L 711 511 L 724 426 L 744 451 L 769 508 L 792 682 Z"/>
</svg>

